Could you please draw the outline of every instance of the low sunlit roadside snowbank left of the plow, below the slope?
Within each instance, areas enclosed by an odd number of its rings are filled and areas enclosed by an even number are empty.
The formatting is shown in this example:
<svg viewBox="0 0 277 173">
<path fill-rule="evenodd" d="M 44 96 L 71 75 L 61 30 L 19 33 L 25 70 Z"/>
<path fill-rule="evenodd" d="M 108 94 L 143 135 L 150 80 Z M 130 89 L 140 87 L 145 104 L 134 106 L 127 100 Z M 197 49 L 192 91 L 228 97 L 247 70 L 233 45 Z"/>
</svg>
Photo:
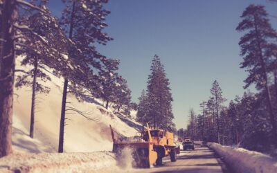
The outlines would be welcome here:
<svg viewBox="0 0 277 173">
<path fill-rule="evenodd" d="M 127 171 L 126 169 L 124 169 Z M 124 172 L 111 152 L 11 154 L 0 159 L 0 172 Z"/>
</svg>

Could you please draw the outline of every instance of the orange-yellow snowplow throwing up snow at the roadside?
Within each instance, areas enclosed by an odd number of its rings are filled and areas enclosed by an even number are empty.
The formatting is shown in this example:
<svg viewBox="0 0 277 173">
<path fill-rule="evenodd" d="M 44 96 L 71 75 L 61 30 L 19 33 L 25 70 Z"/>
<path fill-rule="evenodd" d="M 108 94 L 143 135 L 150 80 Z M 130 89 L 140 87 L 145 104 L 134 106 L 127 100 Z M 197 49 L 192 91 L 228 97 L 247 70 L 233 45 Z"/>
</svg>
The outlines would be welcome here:
<svg viewBox="0 0 277 173">
<path fill-rule="evenodd" d="M 110 126 L 111 128 L 111 126 Z M 151 165 L 162 165 L 162 158 L 170 155 L 172 162 L 176 161 L 179 147 L 173 143 L 173 134 L 161 129 L 143 129 L 141 136 L 135 136 L 132 140 L 120 140 L 114 136 L 111 128 L 111 137 L 114 141 L 113 152 L 120 157 L 123 149 L 132 149 L 132 157 L 136 167 L 150 167 Z"/>
</svg>

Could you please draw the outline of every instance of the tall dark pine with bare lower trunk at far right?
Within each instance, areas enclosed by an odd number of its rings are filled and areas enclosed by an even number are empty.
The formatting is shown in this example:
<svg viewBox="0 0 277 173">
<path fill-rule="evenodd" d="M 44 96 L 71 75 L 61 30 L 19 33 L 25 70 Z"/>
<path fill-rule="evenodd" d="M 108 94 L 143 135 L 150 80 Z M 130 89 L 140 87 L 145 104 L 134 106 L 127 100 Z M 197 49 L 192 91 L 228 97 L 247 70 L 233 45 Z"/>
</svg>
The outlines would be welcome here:
<svg viewBox="0 0 277 173">
<path fill-rule="evenodd" d="M 249 31 L 241 37 L 239 45 L 244 61 L 241 68 L 246 68 L 249 76 L 244 82 L 244 89 L 256 84 L 256 89 L 265 90 L 267 110 L 272 126 L 272 139 L 277 146 L 276 117 L 274 116 L 271 91 L 269 89 L 269 60 L 271 59 L 271 42 L 276 41 L 277 33 L 269 24 L 264 6 L 250 5 L 242 13 L 242 21 L 236 30 Z"/>
</svg>

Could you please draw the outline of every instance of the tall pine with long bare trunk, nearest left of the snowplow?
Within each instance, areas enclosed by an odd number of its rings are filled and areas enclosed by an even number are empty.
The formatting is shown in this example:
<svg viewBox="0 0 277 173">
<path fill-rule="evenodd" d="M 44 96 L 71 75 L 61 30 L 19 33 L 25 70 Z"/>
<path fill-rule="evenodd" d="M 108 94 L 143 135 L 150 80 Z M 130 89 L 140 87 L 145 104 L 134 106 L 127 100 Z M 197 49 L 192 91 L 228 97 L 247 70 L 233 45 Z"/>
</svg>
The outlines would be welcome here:
<svg viewBox="0 0 277 173">
<path fill-rule="evenodd" d="M 61 17 L 62 28 L 68 35 L 73 43 L 74 48 L 69 48 L 69 60 L 75 60 L 78 64 L 82 64 L 85 69 L 79 69 L 79 73 L 75 73 L 70 82 L 79 85 L 100 85 L 96 84 L 100 80 L 96 79 L 96 72 L 102 69 L 102 63 L 107 60 L 104 56 L 96 51 L 95 43 L 106 44 L 111 40 L 102 29 L 107 26 L 105 24 L 105 17 L 109 11 L 102 9 L 103 3 L 107 0 L 100 1 L 71 1 L 63 0 L 66 4 Z M 87 73 L 87 76 L 83 74 Z M 88 81 L 89 79 L 89 81 Z M 64 119 L 66 111 L 66 94 L 69 88 L 69 78 L 64 76 L 64 89 L 62 95 L 62 110 L 60 120 L 60 139 L 59 139 L 59 152 L 63 152 L 64 140 Z M 78 89 L 78 87 L 70 87 L 71 89 Z M 93 88 L 93 86 L 90 86 Z M 77 93 L 78 91 L 73 91 Z"/>
</svg>

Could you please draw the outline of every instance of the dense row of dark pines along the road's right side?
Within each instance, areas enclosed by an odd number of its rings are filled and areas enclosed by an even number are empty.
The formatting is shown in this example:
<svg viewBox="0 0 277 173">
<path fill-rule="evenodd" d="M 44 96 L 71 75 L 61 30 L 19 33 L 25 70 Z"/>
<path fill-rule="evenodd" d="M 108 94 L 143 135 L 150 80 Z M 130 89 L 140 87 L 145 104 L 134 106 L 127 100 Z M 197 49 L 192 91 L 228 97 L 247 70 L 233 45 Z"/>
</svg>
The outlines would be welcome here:
<svg viewBox="0 0 277 173">
<path fill-rule="evenodd" d="M 251 4 L 241 15 L 236 30 L 240 38 L 240 68 L 247 71 L 245 92 L 224 106 L 222 90 L 213 82 L 211 98 L 202 102 L 202 113 L 190 111 L 186 136 L 207 142 L 240 145 L 259 152 L 277 148 L 277 33 L 265 7 Z"/>
</svg>

